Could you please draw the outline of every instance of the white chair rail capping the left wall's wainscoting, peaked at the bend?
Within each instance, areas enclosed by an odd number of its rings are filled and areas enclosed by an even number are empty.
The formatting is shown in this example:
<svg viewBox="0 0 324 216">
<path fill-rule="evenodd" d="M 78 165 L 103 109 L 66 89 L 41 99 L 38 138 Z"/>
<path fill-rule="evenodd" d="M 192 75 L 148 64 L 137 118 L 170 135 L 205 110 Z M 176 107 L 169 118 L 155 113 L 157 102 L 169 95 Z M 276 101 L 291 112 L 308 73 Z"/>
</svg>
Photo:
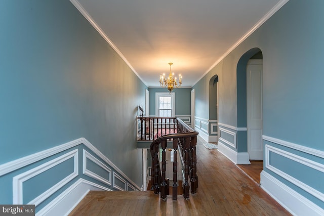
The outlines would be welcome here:
<svg viewBox="0 0 324 216">
<path fill-rule="evenodd" d="M 98 157 L 100 157 L 101 159 L 103 159 L 106 163 L 109 164 L 109 166 L 116 170 L 118 172 L 119 175 L 123 176 L 123 178 L 125 178 L 128 182 L 130 182 L 132 185 L 136 186 L 137 189 L 140 190 L 140 187 L 137 186 L 130 178 L 128 178 L 123 171 L 121 171 L 115 164 L 113 164 L 104 154 L 102 154 L 95 146 L 93 146 L 87 139 L 85 138 L 79 138 L 73 141 L 70 141 L 68 143 L 59 145 L 59 146 L 55 146 L 53 148 L 41 151 L 41 152 L 37 152 L 4 164 L 0 165 L 0 177 L 8 174 L 9 172 L 12 172 L 16 169 L 19 169 L 21 167 L 27 166 L 31 163 L 34 163 L 36 161 L 42 160 L 44 158 L 47 158 L 49 156 L 55 155 L 59 152 L 62 152 L 66 149 L 72 148 L 74 146 L 80 145 L 80 144 L 84 144 L 86 147 L 88 147 L 91 151 L 93 151 L 96 155 L 98 155 Z"/>
</svg>

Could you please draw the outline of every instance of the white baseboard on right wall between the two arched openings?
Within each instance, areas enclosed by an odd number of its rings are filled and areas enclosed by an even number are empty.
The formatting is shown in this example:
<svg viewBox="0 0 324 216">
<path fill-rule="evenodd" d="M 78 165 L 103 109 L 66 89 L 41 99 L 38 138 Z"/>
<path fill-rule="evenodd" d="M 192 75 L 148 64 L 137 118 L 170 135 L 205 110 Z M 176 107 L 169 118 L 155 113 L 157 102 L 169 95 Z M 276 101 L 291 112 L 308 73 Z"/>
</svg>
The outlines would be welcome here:
<svg viewBox="0 0 324 216">
<path fill-rule="evenodd" d="M 247 152 L 236 152 L 220 141 L 218 141 L 218 151 L 235 164 L 251 164 Z"/>
</svg>

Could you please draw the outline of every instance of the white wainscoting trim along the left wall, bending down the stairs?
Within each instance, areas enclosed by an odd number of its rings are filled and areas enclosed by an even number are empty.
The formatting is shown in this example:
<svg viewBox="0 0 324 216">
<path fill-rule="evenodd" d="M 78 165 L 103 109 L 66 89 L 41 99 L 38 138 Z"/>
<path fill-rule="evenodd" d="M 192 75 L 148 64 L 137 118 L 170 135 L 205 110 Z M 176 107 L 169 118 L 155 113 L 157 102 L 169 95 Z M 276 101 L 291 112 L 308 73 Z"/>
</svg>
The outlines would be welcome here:
<svg viewBox="0 0 324 216">
<path fill-rule="evenodd" d="M 82 146 L 83 151 L 79 151 L 76 148 L 69 151 L 70 148 L 79 145 Z M 90 154 L 89 151 L 84 149 L 85 147 L 90 149 L 93 153 Z M 66 153 L 55 158 L 56 154 L 61 153 L 63 151 L 65 151 Z M 83 152 L 83 157 L 80 154 L 81 152 Z M 26 201 L 23 200 L 24 182 L 32 179 L 37 175 L 46 173 L 47 170 L 50 170 L 51 168 L 60 165 L 66 162 L 67 160 L 71 162 L 70 168 L 72 172 L 67 176 L 62 177 L 62 180 L 50 187 L 50 189 L 44 191 L 41 195 L 37 195 L 33 200 L 27 202 L 28 204 L 35 204 L 37 206 L 39 203 L 42 203 L 47 198 L 51 197 L 51 195 L 53 195 L 59 189 L 66 186 L 72 180 L 76 181 L 68 189 L 64 190 L 60 195 L 56 196 L 45 207 L 38 210 L 37 215 L 68 214 L 70 212 L 69 210 L 73 209 L 77 205 L 77 203 L 80 200 L 82 200 L 82 198 L 88 193 L 89 190 L 110 190 L 106 186 L 111 185 L 116 190 L 141 190 L 141 187 L 137 186 L 130 178 L 128 178 L 124 174 L 124 172 L 122 172 L 116 165 L 114 165 L 106 156 L 104 156 L 96 147 L 94 147 L 85 138 L 79 138 L 71 142 L 1 164 L 0 176 L 5 176 L 12 171 L 20 170 L 21 168 L 28 166 L 34 162 L 42 162 L 42 160 L 48 157 L 53 157 L 53 159 L 51 159 L 50 161 L 45 161 L 43 164 L 38 165 L 36 167 L 32 167 L 27 171 L 24 170 L 20 174 L 17 174 L 13 177 L 12 188 L 14 204 L 26 203 Z M 80 174 L 78 173 L 79 159 L 83 160 L 83 174 L 91 177 L 94 180 L 104 183 L 105 186 L 100 186 L 94 182 L 90 182 L 89 180 L 84 180 L 82 176 L 80 176 Z M 87 166 L 87 160 L 91 160 L 92 162 L 94 162 L 94 164 L 107 171 L 109 179 L 105 179 L 99 174 L 95 174 L 94 171 L 91 171 L 91 168 Z M 111 172 L 113 174 L 113 177 L 111 177 Z M 116 178 L 118 179 L 118 181 L 124 183 L 123 187 L 119 187 L 114 184 Z M 111 181 L 113 182 L 111 183 Z"/>
</svg>

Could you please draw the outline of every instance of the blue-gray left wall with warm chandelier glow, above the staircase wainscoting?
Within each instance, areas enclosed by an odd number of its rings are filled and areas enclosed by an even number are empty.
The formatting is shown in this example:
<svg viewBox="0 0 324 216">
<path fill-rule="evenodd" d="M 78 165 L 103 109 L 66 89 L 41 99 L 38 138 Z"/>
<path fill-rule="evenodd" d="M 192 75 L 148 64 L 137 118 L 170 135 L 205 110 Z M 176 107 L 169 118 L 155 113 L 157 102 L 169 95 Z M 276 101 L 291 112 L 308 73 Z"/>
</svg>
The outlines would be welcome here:
<svg viewBox="0 0 324 216">
<path fill-rule="evenodd" d="M 141 186 L 143 82 L 70 1 L 0 1 L 0 26 L 0 165 L 86 138 Z M 11 178 L 0 203 L 12 203 Z"/>
</svg>

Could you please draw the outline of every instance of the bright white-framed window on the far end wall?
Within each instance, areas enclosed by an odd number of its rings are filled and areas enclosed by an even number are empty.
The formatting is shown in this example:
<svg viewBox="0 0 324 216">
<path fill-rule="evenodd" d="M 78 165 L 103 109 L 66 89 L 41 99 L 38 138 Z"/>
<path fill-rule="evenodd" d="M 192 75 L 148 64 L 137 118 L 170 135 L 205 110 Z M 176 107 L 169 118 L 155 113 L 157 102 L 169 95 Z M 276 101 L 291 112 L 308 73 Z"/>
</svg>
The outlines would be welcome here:
<svg viewBox="0 0 324 216">
<path fill-rule="evenodd" d="M 155 115 L 157 117 L 174 117 L 174 93 L 156 93 L 155 102 Z"/>
</svg>

